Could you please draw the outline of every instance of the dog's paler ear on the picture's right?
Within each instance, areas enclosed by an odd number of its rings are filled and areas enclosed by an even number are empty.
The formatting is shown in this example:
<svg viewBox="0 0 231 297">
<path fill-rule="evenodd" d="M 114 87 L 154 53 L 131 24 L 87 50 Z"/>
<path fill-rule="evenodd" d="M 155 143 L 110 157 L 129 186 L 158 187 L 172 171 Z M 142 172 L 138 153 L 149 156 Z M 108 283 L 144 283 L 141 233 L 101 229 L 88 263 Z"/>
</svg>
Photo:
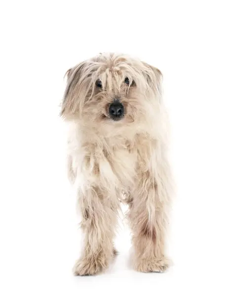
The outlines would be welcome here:
<svg viewBox="0 0 231 297">
<path fill-rule="evenodd" d="M 145 76 L 149 87 L 154 91 L 159 101 L 162 99 L 162 81 L 163 75 L 158 68 L 152 65 L 144 63 L 145 65 Z"/>
</svg>

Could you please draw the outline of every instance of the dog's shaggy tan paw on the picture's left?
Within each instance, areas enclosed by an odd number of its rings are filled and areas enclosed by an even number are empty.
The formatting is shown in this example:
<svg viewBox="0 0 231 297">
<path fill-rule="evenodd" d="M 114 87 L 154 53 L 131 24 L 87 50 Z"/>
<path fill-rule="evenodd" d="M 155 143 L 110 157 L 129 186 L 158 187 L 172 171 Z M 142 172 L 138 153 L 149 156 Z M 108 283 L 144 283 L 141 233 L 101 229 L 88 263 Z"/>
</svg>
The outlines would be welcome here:
<svg viewBox="0 0 231 297">
<path fill-rule="evenodd" d="M 94 275 L 107 269 L 108 261 L 103 258 L 80 259 L 73 267 L 74 275 Z"/>
</svg>

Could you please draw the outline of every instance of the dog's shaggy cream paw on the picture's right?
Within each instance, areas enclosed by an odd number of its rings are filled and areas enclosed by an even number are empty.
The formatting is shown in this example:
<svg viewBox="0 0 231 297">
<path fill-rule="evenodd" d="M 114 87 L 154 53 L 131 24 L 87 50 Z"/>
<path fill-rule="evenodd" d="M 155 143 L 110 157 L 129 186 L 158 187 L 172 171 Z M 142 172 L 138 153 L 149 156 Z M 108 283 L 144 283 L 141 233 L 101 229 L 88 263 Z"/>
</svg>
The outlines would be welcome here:
<svg viewBox="0 0 231 297">
<path fill-rule="evenodd" d="M 135 270 L 140 272 L 164 272 L 171 264 L 167 258 L 139 259 L 135 263 Z"/>
</svg>

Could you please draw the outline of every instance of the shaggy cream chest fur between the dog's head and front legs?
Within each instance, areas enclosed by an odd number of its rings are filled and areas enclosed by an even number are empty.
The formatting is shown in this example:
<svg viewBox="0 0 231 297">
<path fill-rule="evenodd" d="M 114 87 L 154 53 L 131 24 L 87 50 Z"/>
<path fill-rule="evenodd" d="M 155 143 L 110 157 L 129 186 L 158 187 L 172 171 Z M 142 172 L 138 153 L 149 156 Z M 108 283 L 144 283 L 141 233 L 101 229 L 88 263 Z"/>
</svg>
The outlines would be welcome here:
<svg viewBox="0 0 231 297">
<path fill-rule="evenodd" d="M 75 137 L 74 137 L 75 136 Z M 132 187 L 142 166 L 141 136 L 104 138 L 75 133 L 69 138 L 69 173 L 78 187 L 105 189 Z M 146 148 L 145 144 L 142 146 Z"/>
</svg>

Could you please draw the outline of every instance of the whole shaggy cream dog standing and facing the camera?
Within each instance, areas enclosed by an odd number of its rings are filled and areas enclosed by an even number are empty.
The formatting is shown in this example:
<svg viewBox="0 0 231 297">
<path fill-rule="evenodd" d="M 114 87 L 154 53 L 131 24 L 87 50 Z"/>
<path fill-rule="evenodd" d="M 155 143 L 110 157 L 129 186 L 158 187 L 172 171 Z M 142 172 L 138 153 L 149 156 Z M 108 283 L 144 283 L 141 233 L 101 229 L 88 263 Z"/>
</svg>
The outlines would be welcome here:
<svg viewBox="0 0 231 297">
<path fill-rule="evenodd" d="M 133 57 L 101 53 L 66 73 L 61 116 L 69 124 L 68 176 L 81 210 L 84 247 L 75 275 L 105 271 L 123 193 L 133 267 L 163 272 L 171 201 L 168 120 L 161 72 Z"/>
</svg>

